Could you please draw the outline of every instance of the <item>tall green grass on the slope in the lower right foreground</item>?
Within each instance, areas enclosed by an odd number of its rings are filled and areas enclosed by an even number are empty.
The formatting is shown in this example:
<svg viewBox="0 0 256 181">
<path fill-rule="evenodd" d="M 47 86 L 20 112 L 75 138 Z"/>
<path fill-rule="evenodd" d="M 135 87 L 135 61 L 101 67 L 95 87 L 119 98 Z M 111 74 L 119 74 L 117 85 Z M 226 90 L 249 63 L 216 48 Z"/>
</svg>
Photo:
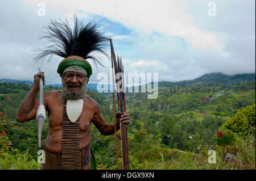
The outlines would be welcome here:
<svg viewBox="0 0 256 181">
<path fill-rule="evenodd" d="M 208 151 L 216 151 L 216 163 L 208 162 Z M 226 153 L 221 149 L 208 148 L 189 151 L 176 151 L 172 158 L 160 154 L 158 161 L 144 161 L 139 169 L 147 170 L 255 170 L 255 136 L 248 134 L 246 138 L 237 137 L 237 146 L 233 148 L 234 157 L 231 161 L 225 160 Z"/>
</svg>

